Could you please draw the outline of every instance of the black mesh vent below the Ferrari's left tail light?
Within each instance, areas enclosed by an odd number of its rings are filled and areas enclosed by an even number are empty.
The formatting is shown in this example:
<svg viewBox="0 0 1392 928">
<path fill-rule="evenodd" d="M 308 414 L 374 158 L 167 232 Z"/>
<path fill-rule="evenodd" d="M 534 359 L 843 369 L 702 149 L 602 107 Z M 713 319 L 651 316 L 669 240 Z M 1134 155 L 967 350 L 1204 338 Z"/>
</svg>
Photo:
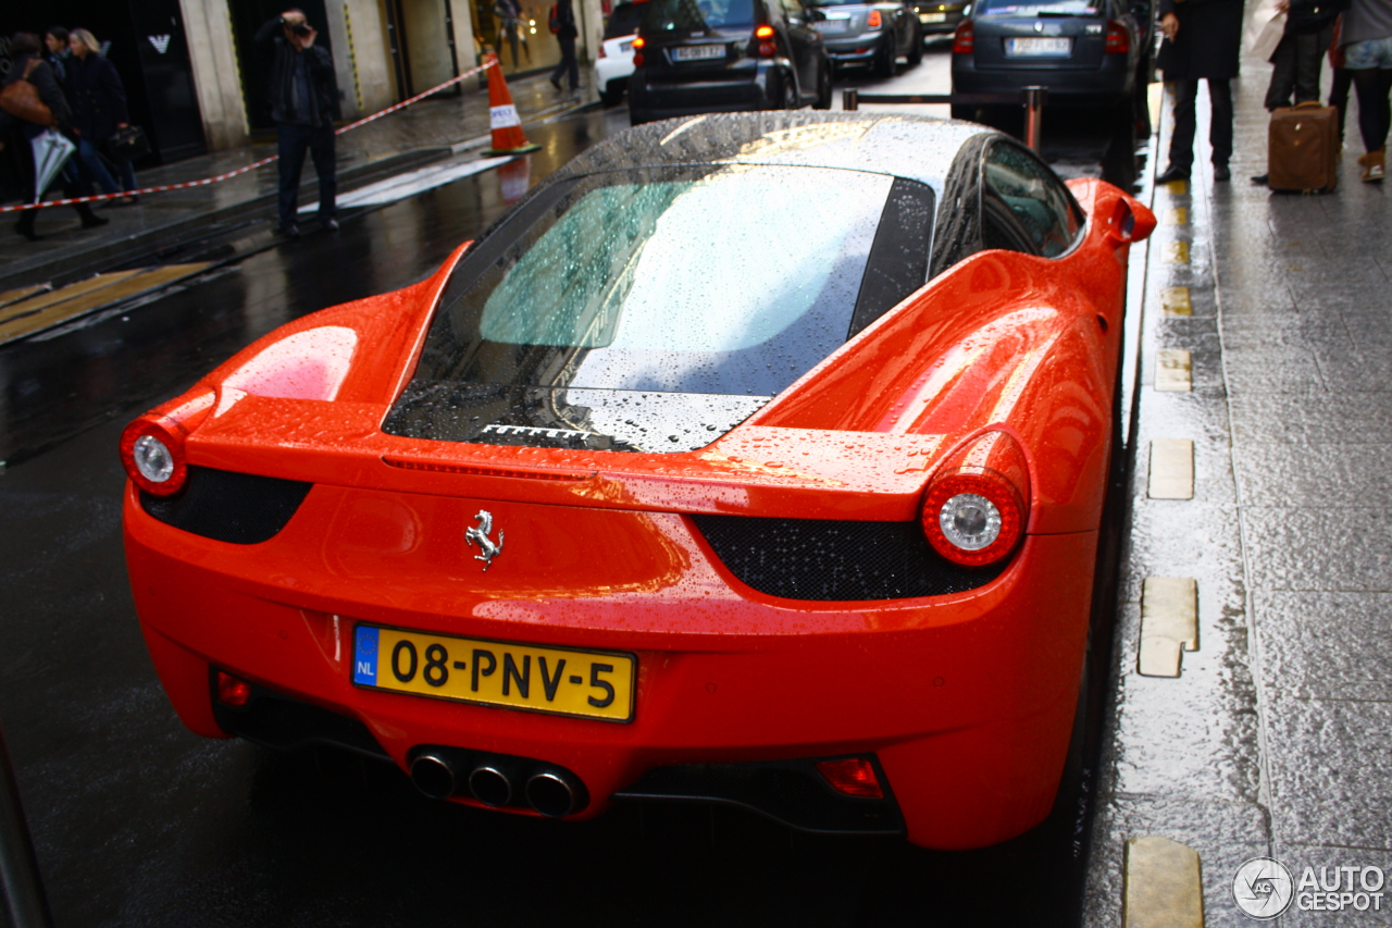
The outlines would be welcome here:
<svg viewBox="0 0 1392 928">
<path fill-rule="evenodd" d="M 285 527 L 313 484 L 277 477 L 189 467 L 174 496 L 141 490 L 141 509 L 166 525 L 231 542 L 256 545 Z"/>
</svg>

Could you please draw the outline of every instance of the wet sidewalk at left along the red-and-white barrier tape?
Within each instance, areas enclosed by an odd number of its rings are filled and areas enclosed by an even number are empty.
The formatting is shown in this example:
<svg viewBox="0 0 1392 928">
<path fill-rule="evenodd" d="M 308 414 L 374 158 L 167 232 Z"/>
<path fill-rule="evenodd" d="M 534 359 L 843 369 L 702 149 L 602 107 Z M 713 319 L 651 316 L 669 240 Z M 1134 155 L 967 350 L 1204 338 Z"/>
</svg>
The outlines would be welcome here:
<svg viewBox="0 0 1392 928">
<path fill-rule="evenodd" d="M 437 156 L 447 156 L 451 148 L 464 150 L 461 146 L 469 142 L 475 144 L 472 148 L 486 148 L 487 91 L 480 88 L 476 78 L 466 78 L 461 85 L 464 93 L 459 96 L 422 100 L 340 135 L 337 149 L 340 192 L 352 188 L 355 171 L 370 170 L 374 163 L 393 156 L 426 149 L 434 150 Z M 599 99 L 593 88 L 582 89 L 578 95 L 557 93 L 544 74 L 509 81 L 508 89 L 523 123 L 589 106 Z M 141 187 L 156 187 L 213 177 L 274 153 L 274 141 L 248 145 L 145 170 L 136 174 L 136 181 Z M 348 183 L 344 183 L 345 180 Z M 316 190 L 315 170 L 306 157 L 301 183 L 302 202 L 312 202 Z M 49 274 L 53 269 L 61 268 L 67 259 L 79 259 L 84 252 L 120 245 L 136 235 L 187 223 L 213 210 L 273 196 L 274 192 L 276 164 L 271 163 L 206 187 L 148 194 L 134 206 L 99 203 L 97 213 L 111 220 L 100 229 L 82 229 L 71 206 L 50 206 L 39 215 L 38 231 L 43 240 L 38 242 L 17 235 L 13 226 L 18 216 L 3 213 L 0 215 L 4 223 L 0 229 L 0 291 L 19 281 L 29 283 L 26 272 L 38 269 Z M 273 208 L 270 213 L 274 213 Z"/>
</svg>

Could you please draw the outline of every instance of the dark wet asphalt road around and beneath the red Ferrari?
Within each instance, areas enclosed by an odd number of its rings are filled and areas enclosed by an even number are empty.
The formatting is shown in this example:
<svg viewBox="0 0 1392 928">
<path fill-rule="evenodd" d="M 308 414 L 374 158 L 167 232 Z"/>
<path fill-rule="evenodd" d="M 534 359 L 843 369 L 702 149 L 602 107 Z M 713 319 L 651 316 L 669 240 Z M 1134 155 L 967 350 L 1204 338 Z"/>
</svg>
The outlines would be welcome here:
<svg viewBox="0 0 1392 928">
<path fill-rule="evenodd" d="M 532 180 L 624 125 L 619 107 L 530 130 Z M 270 242 L 255 233 L 217 244 L 232 263 L 146 305 L 0 348 L 0 720 L 56 922 L 1076 924 L 1082 761 L 1045 825 L 940 854 L 699 807 L 522 819 L 427 800 L 356 757 L 182 729 L 127 587 L 120 429 L 277 325 L 426 276 L 504 209 L 486 171 L 348 213 L 337 235 L 258 251 Z"/>
</svg>

